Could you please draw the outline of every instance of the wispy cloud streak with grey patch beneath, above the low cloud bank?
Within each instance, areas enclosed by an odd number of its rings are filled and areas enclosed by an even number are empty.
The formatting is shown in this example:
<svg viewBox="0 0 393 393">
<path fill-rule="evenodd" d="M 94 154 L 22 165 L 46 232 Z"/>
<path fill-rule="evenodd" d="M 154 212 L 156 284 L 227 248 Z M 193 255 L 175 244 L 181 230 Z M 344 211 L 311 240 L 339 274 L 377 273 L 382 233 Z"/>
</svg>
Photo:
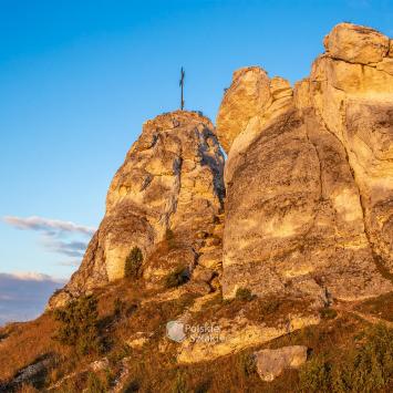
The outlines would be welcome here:
<svg viewBox="0 0 393 393">
<path fill-rule="evenodd" d="M 3 221 L 17 229 L 39 232 L 41 235 L 40 244 L 48 251 L 73 258 L 69 266 L 79 265 L 75 262 L 75 258 L 83 257 L 89 238 L 95 231 L 93 227 L 37 216 L 27 218 L 6 216 Z"/>
</svg>

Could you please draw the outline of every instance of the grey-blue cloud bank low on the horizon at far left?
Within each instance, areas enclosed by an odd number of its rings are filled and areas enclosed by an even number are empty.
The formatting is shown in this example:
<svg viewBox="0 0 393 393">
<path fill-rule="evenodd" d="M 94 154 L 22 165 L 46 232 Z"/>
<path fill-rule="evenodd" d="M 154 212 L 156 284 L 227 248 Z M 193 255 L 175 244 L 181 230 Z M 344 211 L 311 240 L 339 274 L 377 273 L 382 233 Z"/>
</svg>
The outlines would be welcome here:
<svg viewBox="0 0 393 393">
<path fill-rule="evenodd" d="M 38 317 L 62 279 L 38 272 L 0 273 L 0 325 Z"/>
</svg>

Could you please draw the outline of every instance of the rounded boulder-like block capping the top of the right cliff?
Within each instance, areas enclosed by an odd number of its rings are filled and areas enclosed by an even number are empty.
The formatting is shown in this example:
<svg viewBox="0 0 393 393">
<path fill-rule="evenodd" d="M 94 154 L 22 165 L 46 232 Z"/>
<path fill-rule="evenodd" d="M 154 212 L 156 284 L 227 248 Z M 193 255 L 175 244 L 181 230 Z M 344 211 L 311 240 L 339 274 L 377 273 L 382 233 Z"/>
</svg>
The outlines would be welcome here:
<svg viewBox="0 0 393 393">
<path fill-rule="evenodd" d="M 324 39 L 331 58 L 351 63 L 376 63 L 389 52 L 389 38 L 374 29 L 340 23 Z"/>
</svg>

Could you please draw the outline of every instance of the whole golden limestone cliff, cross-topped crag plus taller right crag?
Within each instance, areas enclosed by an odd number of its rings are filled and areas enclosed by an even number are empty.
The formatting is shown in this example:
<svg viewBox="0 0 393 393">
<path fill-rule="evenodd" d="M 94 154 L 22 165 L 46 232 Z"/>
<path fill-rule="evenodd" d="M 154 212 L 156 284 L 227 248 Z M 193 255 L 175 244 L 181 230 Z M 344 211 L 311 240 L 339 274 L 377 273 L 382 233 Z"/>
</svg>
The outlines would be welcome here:
<svg viewBox="0 0 393 393">
<path fill-rule="evenodd" d="M 393 290 L 392 40 L 341 23 L 324 46 L 293 89 L 258 66 L 236 71 L 216 131 L 194 112 L 146 122 L 50 307 L 122 278 L 134 246 L 147 287 L 183 263 L 196 291 L 226 298 L 247 288 L 320 307 Z"/>
</svg>

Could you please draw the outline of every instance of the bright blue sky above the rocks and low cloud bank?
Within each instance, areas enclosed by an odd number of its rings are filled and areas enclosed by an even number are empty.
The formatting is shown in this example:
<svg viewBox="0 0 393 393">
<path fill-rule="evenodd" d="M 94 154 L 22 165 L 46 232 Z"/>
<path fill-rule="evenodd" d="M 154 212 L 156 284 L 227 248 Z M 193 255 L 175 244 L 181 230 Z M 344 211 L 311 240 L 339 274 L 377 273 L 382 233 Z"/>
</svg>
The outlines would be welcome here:
<svg viewBox="0 0 393 393">
<path fill-rule="evenodd" d="M 214 120 L 234 70 L 293 83 L 341 21 L 393 37 L 393 2 L 0 0 L 0 273 L 71 275 L 182 65 L 186 108 Z"/>
</svg>

